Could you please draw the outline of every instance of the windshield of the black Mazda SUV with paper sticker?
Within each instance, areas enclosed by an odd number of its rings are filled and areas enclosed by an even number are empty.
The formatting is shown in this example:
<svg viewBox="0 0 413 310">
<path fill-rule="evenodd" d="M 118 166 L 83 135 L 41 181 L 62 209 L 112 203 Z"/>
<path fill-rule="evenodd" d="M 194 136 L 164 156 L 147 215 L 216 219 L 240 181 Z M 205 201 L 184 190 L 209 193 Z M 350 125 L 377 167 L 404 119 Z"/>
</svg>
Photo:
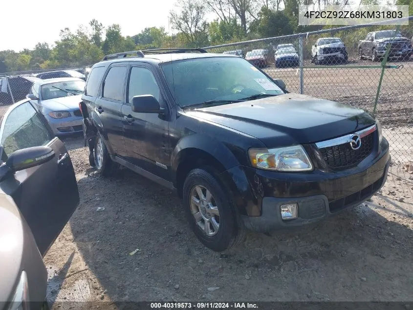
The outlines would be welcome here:
<svg viewBox="0 0 413 310">
<path fill-rule="evenodd" d="M 161 65 L 161 69 L 181 107 L 209 100 L 284 94 L 277 84 L 243 58 L 178 60 Z"/>
</svg>

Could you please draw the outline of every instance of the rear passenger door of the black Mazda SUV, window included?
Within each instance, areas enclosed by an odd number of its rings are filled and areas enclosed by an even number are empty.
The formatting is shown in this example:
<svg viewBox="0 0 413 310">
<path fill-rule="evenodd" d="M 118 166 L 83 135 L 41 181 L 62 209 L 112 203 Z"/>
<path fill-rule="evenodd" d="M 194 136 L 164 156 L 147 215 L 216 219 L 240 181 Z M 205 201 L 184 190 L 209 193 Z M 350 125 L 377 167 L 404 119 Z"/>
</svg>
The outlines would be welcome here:
<svg viewBox="0 0 413 310">
<path fill-rule="evenodd" d="M 104 139 L 110 154 L 125 157 L 121 108 L 124 102 L 126 65 L 109 67 L 102 83 L 101 95 L 95 101 L 94 112 L 102 122 Z M 106 135 L 106 137 L 105 137 Z"/>
</svg>

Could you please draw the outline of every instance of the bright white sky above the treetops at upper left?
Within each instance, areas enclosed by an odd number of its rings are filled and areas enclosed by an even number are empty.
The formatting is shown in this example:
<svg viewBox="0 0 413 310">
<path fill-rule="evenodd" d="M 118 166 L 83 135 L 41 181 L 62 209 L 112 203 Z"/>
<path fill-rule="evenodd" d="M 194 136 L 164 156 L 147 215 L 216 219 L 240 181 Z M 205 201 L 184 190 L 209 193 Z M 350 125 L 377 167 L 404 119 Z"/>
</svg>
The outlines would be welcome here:
<svg viewBox="0 0 413 310">
<path fill-rule="evenodd" d="M 104 3 L 108 4 L 104 4 Z M 126 4 L 129 2 L 128 4 Z M 73 32 L 96 19 L 104 26 L 120 24 L 122 35 L 132 36 L 145 27 L 164 26 L 175 0 L 6 0 L 0 4 L 0 50 L 33 49 L 38 42 L 50 46 L 61 29 Z M 119 3 L 119 5 L 117 5 Z M 122 4 L 125 3 L 125 4 Z M 170 29 L 172 31 L 172 29 Z"/>
</svg>

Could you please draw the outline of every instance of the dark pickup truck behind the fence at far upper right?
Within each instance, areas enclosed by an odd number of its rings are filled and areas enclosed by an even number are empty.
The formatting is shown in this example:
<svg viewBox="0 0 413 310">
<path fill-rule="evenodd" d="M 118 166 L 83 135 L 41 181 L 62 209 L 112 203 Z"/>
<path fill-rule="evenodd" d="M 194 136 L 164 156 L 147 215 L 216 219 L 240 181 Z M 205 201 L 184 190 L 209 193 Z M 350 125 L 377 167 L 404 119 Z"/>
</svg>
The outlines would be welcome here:
<svg viewBox="0 0 413 310">
<path fill-rule="evenodd" d="M 368 57 L 371 61 L 379 61 L 386 54 L 388 45 L 390 45 L 389 57 L 410 58 L 412 56 L 412 40 L 403 37 L 396 30 L 382 30 L 369 32 L 365 40 L 359 41 L 359 58 Z"/>
</svg>

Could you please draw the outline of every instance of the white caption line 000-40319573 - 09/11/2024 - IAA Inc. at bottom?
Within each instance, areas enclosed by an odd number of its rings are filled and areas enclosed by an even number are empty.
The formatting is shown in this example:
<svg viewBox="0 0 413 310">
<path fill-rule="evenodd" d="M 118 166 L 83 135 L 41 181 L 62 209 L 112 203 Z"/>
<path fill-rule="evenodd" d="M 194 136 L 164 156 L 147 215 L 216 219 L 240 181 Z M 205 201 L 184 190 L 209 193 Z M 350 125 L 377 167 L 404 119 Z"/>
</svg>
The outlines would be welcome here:
<svg viewBox="0 0 413 310">
<path fill-rule="evenodd" d="M 151 303 L 151 309 L 258 309 L 255 303 Z"/>
</svg>

